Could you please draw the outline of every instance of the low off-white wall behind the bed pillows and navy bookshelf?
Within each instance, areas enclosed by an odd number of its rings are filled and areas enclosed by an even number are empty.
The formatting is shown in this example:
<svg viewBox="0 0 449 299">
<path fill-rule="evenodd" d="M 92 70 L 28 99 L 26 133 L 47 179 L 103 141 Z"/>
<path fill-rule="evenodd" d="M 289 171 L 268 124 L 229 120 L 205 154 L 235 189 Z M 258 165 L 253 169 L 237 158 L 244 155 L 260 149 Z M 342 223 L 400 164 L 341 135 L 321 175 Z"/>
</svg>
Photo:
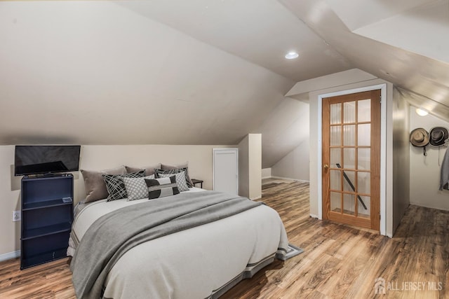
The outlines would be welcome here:
<svg viewBox="0 0 449 299">
<path fill-rule="evenodd" d="M 188 161 L 190 176 L 202 179 L 203 188 L 212 190 L 212 149 L 217 147 L 236 146 L 82 146 L 80 168 L 100 170 L 120 165 L 140 167 L 159 162 L 170 165 Z M 14 176 L 13 165 L 14 146 L 0 146 L 0 260 L 2 257 L 12 257 L 9 253 L 20 249 L 20 222 L 11 220 L 12 211 L 20 210 L 22 177 Z M 74 203 L 85 195 L 82 175 L 74 172 Z"/>
</svg>

